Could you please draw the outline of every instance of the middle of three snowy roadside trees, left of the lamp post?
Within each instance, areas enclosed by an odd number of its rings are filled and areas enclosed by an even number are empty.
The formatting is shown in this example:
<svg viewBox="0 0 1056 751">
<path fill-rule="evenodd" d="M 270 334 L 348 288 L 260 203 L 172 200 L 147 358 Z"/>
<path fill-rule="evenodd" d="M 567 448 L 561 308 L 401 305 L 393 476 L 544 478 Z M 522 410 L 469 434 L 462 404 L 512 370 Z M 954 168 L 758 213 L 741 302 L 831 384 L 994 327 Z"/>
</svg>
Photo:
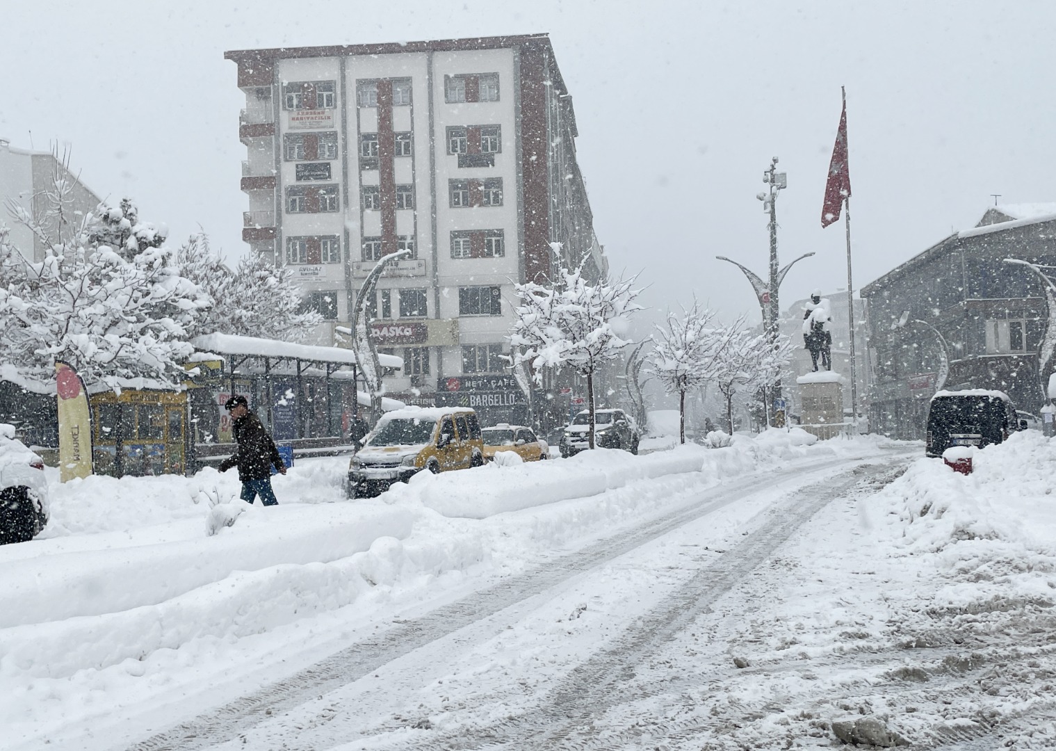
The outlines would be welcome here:
<svg viewBox="0 0 1056 751">
<path fill-rule="evenodd" d="M 685 443 L 685 393 L 715 379 L 722 369 L 737 326 L 713 326 L 715 313 L 696 302 L 682 317 L 667 315 L 666 325 L 657 326 L 650 372 L 668 394 L 678 394 L 679 438 Z"/>
</svg>

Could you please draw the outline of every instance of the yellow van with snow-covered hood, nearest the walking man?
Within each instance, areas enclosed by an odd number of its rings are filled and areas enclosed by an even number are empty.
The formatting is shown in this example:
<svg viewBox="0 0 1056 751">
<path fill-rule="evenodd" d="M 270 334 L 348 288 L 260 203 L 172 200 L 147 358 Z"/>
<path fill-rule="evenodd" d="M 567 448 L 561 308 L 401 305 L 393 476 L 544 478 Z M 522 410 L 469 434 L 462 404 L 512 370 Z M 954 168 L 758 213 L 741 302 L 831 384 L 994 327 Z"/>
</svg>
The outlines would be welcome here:
<svg viewBox="0 0 1056 751">
<path fill-rule="evenodd" d="M 348 497 L 370 497 L 428 469 L 434 474 L 484 464 L 476 412 L 406 407 L 386 412 L 348 462 Z"/>
</svg>

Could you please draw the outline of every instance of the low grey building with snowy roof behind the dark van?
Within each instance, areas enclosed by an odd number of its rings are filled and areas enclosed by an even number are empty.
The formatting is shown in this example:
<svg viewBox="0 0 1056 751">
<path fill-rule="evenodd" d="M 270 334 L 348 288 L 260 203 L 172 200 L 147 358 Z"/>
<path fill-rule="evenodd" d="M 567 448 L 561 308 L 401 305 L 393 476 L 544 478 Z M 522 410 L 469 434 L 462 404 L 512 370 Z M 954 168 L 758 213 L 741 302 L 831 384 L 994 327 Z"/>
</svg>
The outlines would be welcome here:
<svg viewBox="0 0 1056 751">
<path fill-rule="evenodd" d="M 1042 278 L 1006 259 L 1056 266 L 1056 204 L 993 207 L 862 288 L 874 432 L 923 438 L 941 388 L 996 389 L 1038 413 L 1052 370 L 1042 339 L 1056 311 Z"/>
</svg>

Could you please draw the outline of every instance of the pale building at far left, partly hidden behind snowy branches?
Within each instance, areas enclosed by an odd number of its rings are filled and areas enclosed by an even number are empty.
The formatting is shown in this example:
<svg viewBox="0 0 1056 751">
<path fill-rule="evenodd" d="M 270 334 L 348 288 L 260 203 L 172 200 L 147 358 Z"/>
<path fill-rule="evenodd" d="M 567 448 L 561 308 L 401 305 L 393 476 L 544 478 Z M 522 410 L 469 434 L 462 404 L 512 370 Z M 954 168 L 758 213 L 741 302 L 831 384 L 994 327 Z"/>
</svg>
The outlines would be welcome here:
<svg viewBox="0 0 1056 751">
<path fill-rule="evenodd" d="M 67 188 L 63 209 L 74 225 L 95 211 L 100 200 L 69 169 L 69 163 L 51 151 L 18 149 L 6 138 L 0 138 L 0 208 L 8 203 L 24 209 L 41 222 L 49 240 L 58 241 L 58 226 L 54 217 L 46 217 L 49 200 L 45 193 L 55 193 L 55 183 L 61 181 Z M 0 215 L 6 214 L 6 210 Z M 0 220 L 2 221 L 2 220 Z M 45 241 L 21 222 L 7 219 L 8 241 L 30 261 L 44 258 Z"/>
</svg>

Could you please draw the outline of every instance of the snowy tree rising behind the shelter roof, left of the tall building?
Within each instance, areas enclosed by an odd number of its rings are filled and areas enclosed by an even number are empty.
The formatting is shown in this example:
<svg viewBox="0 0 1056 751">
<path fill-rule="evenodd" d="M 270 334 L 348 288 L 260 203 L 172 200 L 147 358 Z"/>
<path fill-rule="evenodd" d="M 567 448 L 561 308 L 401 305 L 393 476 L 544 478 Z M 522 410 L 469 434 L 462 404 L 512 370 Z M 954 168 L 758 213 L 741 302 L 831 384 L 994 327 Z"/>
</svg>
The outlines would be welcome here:
<svg viewBox="0 0 1056 751">
<path fill-rule="evenodd" d="M 196 321 L 197 333 L 301 341 L 322 321 L 318 313 L 301 309 L 301 293 L 287 267 L 250 255 L 231 270 L 204 232 L 180 247 L 176 263 L 213 301 Z"/>
</svg>

